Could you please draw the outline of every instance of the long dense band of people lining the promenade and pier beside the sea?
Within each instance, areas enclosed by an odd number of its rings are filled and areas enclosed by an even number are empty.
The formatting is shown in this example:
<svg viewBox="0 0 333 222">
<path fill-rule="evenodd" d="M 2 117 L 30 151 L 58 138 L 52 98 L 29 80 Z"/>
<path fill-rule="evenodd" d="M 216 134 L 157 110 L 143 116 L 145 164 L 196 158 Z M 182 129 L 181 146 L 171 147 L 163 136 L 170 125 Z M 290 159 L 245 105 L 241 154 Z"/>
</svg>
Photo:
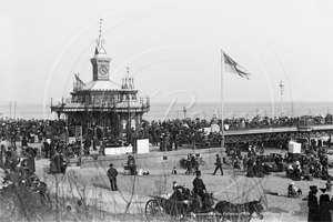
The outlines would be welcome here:
<svg viewBox="0 0 333 222">
<path fill-rule="evenodd" d="M 223 123 L 229 125 L 229 130 L 285 127 L 297 124 L 299 120 L 312 119 L 313 124 L 325 124 L 332 122 L 332 114 L 326 117 L 254 117 L 252 119 L 232 118 L 224 119 Z M 83 141 L 67 141 L 69 135 L 73 135 L 73 125 L 67 125 L 64 120 L 0 120 L 0 137 L 12 143 L 16 149 L 16 141 L 21 140 L 22 147 L 28 147 L 28 142 L 42 142 L 44 158 L 56 155 L 58 151 L 68 158 L 80 155 L 80 144 L 83 142 L 84 155 L 90 155 L 90 148 L 99 148 L 100 154 L 104 154 L 105 147 L 120 147 L 132 144 L 135 150 L 137 139 L 149 139 L 152 145 L 160 145 L 161 150 L 178 150 L 183 144 L 219 147 L 221 134 L 219 132 L 204 132 L 203 128 L 216 124 L 221 128 L 222 120 L 213 118 L 205 119 L 175 119 L 164 121 L 142 121 L 138 133 L 132 130 L 125 138 L 114 137 L 110 127 L 91 125 L 84 130 Z M 276 143 L 276 142 L 275 142 Z M 281 147 L 282 144 L 273 144 Z M 331 144 L 331 141 L 324 141 Z M 268 144 L 266 144 L 268 145 Z"/>
</svg>

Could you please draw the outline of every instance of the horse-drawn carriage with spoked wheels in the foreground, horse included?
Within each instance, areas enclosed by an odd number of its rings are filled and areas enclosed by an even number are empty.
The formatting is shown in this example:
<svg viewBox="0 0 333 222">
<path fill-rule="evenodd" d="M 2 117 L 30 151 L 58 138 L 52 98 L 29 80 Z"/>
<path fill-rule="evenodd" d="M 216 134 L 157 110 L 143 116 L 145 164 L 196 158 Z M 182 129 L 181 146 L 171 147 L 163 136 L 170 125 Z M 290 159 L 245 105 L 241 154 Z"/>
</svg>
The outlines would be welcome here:
<svg viewBox="0 0 333 222">
<path fill-rule="evenodd" d="M 191 193 L 188 200 L 178 201 L 168 195 L 152 195 L 145 204 L 148 221 L 250 221 L 258 216 L 263 219 L 261 200 L 233 204 L 228 201 L 219 201 L 215 206 L 212 194 L 206 195 L 205 205 L 195 193 Z M 254 216 L 253 216 L 254 214 Z"/>
</svg>

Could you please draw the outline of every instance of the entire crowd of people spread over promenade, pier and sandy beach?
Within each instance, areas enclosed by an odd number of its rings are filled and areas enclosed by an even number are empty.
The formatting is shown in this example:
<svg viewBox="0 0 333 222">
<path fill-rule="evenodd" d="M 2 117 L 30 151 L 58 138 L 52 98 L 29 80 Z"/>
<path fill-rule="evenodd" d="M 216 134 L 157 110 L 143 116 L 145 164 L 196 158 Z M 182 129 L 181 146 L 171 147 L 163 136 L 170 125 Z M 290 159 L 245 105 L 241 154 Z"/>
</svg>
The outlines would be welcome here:
<svg viewBox="0 0 333 222">
<path fill-rule="evenodd" d="M 310 118 L 310 117 L 305 117 Z M 229 129 L 249 129 L 249 128 L 270 128 L 270 127 L 286 127 L 297 124 L 300 118 L 260 118 L 253 119 L 225 119 L 224 124 Z M 332 115 L 326 117 L 312 117 L 314 124 L 325 124 L 332 121 Z M 149 139 L 153 145 L 161 145 L 165 150 L 178 148 L 182 144 L 193 144 L 200 142 L 209 142 L 219 145 L 221 143 L 221 135 L 218 132 L 205 133 L 202 129 L 209 128 L 212 124 L 221 125 L 221 120 L 212 119 L 211 121 L 201 119 L 183 119 L 183 120 L 168 120 L 168 121 L 143 121 L 142 128 L 138 133 L 132 131 L 128 134 L 127 141 L 121 138 L 115 138 L 111 133 L 110 128 L 92 125 L 87 129 L 83 141 L 68 142 L 68 137 L 72 133 L 71 125 L 67 125 L 63 120 L 1 120 L 0 121 L 0 137 L 1 137 L 1 151 L 0 151 L 0 168 L 4 169 L 6 182 L 4 186 L 10 185 L 9 178 L 19 178 L 19 183 L 30 190 L 43 190 L 41 192 L 46 199 L 46 184 L 40 181 L 36 175 L 37 157 L 50 159 L 50 173 L 65 173 L 67 165 L 70 158 L 78 158 L 81 153 L 81 145 L 83 147 L 84 155 L 90 155 L 90 150 L 98 150 L 99 154 L 105 154 L 105 147 L 117 147 L 133 144 L 135 147 L 135 139 Z M 18 153 L 17 141 L 21 141 L 21 153 Z M 6 144 L 9 141 L 9 144 Z M 41 142 L 41 149 L 33 149 L 28 143 Z M 300 141 L 302 149 L 305 151 L 300 158 L 290 164 L 286 170 L 287 178 L 292 180 L 312 180 L 313 178 L 321 178 L 331 181 L 332 176 L 329 174 L 327 153 L 322 145 L 331 144 L 331 141 Z M 272 171 L 271 162 L 274 162 L 278 172 L 284 171 L 284 164 L 293 160 L 290 157 L 282 157 L 281 154 L 264 155 L 263 143 L 246 143 L 249 152 L 245 157 L 241 155 L 241 148 L 235 144 L 228 151 L 231 154 L 232 165 L 235 169 L 241 169 L 246 172 L 249 178 L 262 178 L 270 174 Z M 3 161 L 4 160 L 4 161 Z M 196 182 L 193 181 L 194 192 L 204 198 L 203 181 L 200 179 L 199 165 L 202 162 L 198 157 L 190 154 L 184 159 L 186 173 L 196 174 Z M 223 162 L 226 160 L 223 158 Z M 117 191 L 117 175 L 115 169 L 110 165 L 108 176 L 110 179 L 111 189 Z M 128 169 L 132 175 L 138 174 L 137 164 L 133 157 L 129 157 Z M 175 169 L 174 169 L 175 170 Z M 215 171 L 213 174 L 221 171 L 222 160 L 216 155 Z M 199 180 L 200 179 L 200 180 Z M 199 182 L 198 182 L 199 181 Z M 2 184 L 2 186 L 3 186 Z M 204 186 L 204 184 L 203 184 Z M 291 195 L 300 195 L 294 184 L 289 188 Z M 313 193 L 312 193 L 313 194 Z M 323 206 L 321 206 L 323 208 Z"/>
</svg>

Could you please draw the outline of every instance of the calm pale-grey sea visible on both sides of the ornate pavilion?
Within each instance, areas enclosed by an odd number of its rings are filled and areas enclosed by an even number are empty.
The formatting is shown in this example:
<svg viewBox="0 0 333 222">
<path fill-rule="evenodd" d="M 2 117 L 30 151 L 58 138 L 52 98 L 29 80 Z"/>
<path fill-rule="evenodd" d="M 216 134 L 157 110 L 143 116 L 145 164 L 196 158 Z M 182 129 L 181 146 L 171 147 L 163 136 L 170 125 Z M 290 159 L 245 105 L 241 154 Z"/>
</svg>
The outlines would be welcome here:
<svg viewBox="0 0 333 222">
<path fill-rule="evenodd" d="M 331 110 L 330 110 L 331 109 Z M 173 120 L 173 119 L 205 119 L 213 117 L 221 119 L 221 102 L 151 102 L 150 111 L 143 114 L 143 119 L 152 120 Z M 333 101 L 329 102 L 226 102 L 223 103 L 223 119 L 225 118 L 246 118 L 254 115 L 265 115 L 270 118 L 286 115 L 326 115 L 333 112 Z M 37 103 L 0 102 L 0 118 L 12 119 L 57 119 L 56 113 L 51 113 L 50 105 Z"/>
</svg>

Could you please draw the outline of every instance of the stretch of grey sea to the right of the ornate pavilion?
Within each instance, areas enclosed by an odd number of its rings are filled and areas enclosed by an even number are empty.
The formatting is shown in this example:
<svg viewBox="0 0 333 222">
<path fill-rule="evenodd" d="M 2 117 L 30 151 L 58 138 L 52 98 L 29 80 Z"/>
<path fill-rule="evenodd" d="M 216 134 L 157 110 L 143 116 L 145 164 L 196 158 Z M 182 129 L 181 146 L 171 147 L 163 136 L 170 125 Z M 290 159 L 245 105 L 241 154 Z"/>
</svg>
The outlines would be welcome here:
<svg viewBox="0 0 333 222">
<path fill-rule="evenodd" d="M 184 104 L 151 104 L 149 113 L 144 114 L 145 120 L 168 120 L 176 118 L 200 118 L 210 120 L 213 115 L 221 118 L 222 105 L 219 102 L 214 103 L 194 103 L 185 105 L 186 113 L 183 111 Z M 285 102 L 283 103 L 283 115 L 300 117 L 300 115 L 325 115 L 333 111 L 333 102 Z M 253 118 L 254 115 L 280 117 L 281 103 L 272 102 L 230 102 L 223 104 L 223 118 Z M 332 113 L 332 112 L 331 112 Z"/>
</svg>

